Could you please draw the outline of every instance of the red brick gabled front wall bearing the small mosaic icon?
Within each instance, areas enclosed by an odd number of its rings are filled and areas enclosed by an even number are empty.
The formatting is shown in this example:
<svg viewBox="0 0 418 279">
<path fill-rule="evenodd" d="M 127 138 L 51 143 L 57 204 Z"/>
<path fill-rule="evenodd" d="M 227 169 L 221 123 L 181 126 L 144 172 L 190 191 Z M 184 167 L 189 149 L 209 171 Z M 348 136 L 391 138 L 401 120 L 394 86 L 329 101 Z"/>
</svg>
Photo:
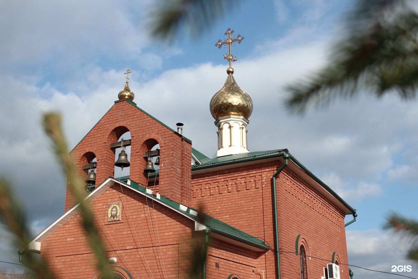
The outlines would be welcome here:
<svg viewBox="0 0 418 279">
<path fill-rule="evenodd" d="M 111 202 L 122 202 L 121 221 L 107 223 Z M 122 194 L 119 184 L 97 197 L 92 210 L 107 256 L 117 258 L 115 265 L 130 271 L 134 278 L 186 276 L 193 221 L 150 199 L 147 205 L 145 197 L 133 190 L 124 188 Z M 57 278 L 92 279 L 98 271 L 79 214 L 46 238 L 41 249 L 42 258 L 51 264 Z"/>
</svg>

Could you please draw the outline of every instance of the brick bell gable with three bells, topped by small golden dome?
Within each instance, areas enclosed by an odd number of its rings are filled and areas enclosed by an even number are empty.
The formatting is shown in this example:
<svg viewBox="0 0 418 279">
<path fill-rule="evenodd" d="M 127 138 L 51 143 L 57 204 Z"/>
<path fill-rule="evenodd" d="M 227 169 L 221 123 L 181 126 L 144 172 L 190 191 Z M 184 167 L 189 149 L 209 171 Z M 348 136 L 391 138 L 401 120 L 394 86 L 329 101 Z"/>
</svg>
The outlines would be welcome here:
<svg viewBox="0 0 418 279">
<path fill-rule="evenodd" d="M 128 69 L 125 74 L 129 73 Z M 107 177 L 115 177 L 115 166 L 129 166 L 129 179 L 148 187 L 149 174 L 155 173 L 150 159 L 158 157 L 156 192 L 191 206 L 191 141 L 139 108 L 133 102 L 134 94 L 129 88 L 128 76 L 126 78 L 125 87 L 118 94 L 119 100 L 71 151 L 80 176 L 86 183 L 98 186 Z M 131 138 L 120 140 L 127 132 Z M 152 150 L 156 145 L 159 149 Z M 127 146 L 130 146 L 130 159 L 124 150 Z M 119 155 L 115 152 L 117 148 L 121 148 Z M 93 162 L 94 158 L 97 162 Z M 96 169 L 94 179 L 93 174 L 88 175 L 89 169 Z M 65 209 L 74 202 L 67 189 Z"/>
</svg>

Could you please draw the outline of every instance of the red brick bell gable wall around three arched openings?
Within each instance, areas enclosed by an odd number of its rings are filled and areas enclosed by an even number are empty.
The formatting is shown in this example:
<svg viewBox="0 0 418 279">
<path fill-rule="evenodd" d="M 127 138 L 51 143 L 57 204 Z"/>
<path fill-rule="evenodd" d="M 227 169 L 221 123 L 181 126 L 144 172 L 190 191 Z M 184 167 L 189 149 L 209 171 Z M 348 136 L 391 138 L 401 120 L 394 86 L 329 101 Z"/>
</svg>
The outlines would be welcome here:
<svg viewBox="0 0 418 279">
<path fill-rule="evenodd" d="M 91 157 L 91 154 L 97 157 L 96 185 L 102 183 L 108 176 L 115 176 L 115 151 L 110 149 L 110 143 L 118 141 L 127 131 L 131 134 L 130 179 L 141 185 L 146 184 L 147 177 L 143 171 L 146 160 L 143 158 L 143 152 L 158 143 L 160 145 L 159 192 L 173 201 L 189 206 L 191 144 L 128 101 L 115 103 L 71 151 L 83 179 L 87 177 L 87 172 L 82 170 L 82 165 L 87 163 L 87 158 Z M 65 210 L 74 203 L 74 197 L 67 189 Z"/>
</svg>

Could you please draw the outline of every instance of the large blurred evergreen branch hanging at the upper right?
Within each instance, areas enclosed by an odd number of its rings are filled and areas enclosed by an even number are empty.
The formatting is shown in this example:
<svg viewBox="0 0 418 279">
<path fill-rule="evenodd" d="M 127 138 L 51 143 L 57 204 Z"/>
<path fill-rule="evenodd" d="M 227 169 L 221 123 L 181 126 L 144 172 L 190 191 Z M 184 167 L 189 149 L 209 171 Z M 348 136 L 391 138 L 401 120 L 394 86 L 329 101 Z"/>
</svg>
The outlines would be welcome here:
<svg viewBox="0 0 418 279">
<path fill-rule="evenodd" d="M 405 0 L 362 0 L 348 17 L 347 36 L 332 49 L 331 62 L 287 87 L 286 107 L 303 113 L 360 89 L 402 100 L 418 89 L 418 14 Z"/>
</svg>

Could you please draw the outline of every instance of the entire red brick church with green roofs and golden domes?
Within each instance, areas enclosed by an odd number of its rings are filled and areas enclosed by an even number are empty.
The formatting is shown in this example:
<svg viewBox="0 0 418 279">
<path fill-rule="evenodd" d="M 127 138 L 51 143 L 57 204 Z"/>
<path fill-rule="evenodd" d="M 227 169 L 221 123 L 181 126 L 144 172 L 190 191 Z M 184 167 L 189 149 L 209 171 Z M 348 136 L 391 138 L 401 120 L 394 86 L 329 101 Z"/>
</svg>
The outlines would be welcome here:
<svg viewBox="0 0 418 279">
<path fill-rule="evenodd" d="M 248 150 L 253 102 L 233 76 L 231 46 L 244 37 L 232 34 L 216 44 L 228 47 L 229 67 L 209 103 L 213 158 L 181 123 L 138 107 L 129 69 L 118 100 L 71 151 L 115 278 L 189 278 L 203 237 L 202 279 L 349 279 L 344 218 L 356 211 L 288 149 Z M 129 176 L 117 175 L 123 167 Z M 101 276 L 79 211 L 67 189 L 64 214 L 31 242 L 57 278 Z"/>
</svg>

